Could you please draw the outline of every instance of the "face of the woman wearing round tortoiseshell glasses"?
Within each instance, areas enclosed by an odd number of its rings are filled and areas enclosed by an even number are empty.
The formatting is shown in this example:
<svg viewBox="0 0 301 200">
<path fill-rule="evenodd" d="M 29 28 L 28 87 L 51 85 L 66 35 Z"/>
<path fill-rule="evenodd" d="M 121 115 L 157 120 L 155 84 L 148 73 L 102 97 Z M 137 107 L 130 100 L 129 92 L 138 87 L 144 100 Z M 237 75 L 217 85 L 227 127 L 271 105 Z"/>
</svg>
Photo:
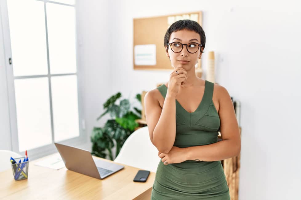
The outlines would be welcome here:
<svg viewBox="0 0 301 200">
<path fill-rule="evenodd" d="M 171 33 L 169 38 L 169 43 L 172 42 L 180 42 L 182 44 L 189 44 L 191 42 L 196 42 L 201 44 L 201 38 L 199 33 L 196 33 L 195 31 L 191 30 L 179 30 L 176 32 Z M 203 47 L 200 47 L 199 50 L 196 53 L 190 53 L 187 51 L 186 45 L 183 45 L 182 51 L 179 53 L 175 53 L 171 50 L 171 46 L 168 46 L 168 51 L 166 52 L 167 57 L 170 57 L 171 65 L 174 68 L 182 67 L 185 70 L 190 70 L 192 67 L 195 67 L 195 64 L 197 63 L 199 56 L 202 55 L 200 49 Z M 187 60 L 187 62 L 183 62 L 181 60 Z"/>
</svg>

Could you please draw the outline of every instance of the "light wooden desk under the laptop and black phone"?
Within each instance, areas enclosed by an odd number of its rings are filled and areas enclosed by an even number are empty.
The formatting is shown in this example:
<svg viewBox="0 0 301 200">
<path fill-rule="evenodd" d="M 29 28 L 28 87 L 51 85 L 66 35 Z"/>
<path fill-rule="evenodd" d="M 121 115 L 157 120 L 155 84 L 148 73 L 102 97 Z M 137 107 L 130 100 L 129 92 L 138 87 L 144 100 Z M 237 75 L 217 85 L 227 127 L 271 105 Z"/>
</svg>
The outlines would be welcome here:
<svg viewBox="0 0 301 200">
<path fill-rule="evenodd" d="M 25 180 L 15 181 L 11 169 L 0 172 L 0 199 L 150 199 L 155 181 L 156 173 L 151 171 L 145 183 L 134 182 L 139 168 L 124 164 L 105 179 L 95 179 L 66 167 L 54 170 L 34 165 L 38 160 L 30 161 Z"/>
</svg>

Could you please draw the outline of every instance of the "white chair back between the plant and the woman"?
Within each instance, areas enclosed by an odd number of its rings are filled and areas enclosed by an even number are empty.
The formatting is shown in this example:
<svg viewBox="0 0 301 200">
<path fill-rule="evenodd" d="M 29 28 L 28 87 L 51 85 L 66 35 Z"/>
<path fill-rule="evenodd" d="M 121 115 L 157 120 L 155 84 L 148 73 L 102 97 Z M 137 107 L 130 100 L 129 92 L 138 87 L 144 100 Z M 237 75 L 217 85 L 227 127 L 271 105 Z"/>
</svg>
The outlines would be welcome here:
<svg viewBox="0 0 301 200">
<path fill-rule="evenodd" d="M 161 158 L 151 143 L 148 127 L 134 131 L 124 142 L 114 162 L 156 172 Z"/>
</svg>

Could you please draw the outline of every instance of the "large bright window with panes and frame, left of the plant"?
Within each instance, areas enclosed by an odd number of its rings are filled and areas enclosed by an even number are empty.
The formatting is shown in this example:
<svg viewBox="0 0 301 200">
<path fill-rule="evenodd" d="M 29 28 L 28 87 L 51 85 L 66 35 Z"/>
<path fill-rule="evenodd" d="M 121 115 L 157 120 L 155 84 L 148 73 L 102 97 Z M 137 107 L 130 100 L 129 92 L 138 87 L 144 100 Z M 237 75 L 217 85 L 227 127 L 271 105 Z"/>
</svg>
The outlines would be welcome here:
<svg viewBox="0 0 301 200">
<path fill-rule="evenodd" d="M 15 152 L 39 157 L 40 152 L 54 152 L 54 142 L 86 140 L 78 101 L 74 4 L 1 1 Z"/>
</svg>

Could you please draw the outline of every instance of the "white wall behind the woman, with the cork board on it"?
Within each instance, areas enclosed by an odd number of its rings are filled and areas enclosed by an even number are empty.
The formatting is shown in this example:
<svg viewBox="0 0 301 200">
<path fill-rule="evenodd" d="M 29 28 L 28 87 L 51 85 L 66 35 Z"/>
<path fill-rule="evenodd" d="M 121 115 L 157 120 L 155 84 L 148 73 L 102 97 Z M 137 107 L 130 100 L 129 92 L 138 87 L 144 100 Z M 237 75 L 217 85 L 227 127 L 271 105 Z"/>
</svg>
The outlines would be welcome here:
<svg viewBox="0 0 301 200">
<path fill-rule="evenodd" d="M 170 73 L 133 70 L 133 18 L 203 11 L 203 69 L 207 52 L 215 51 L 216 82 L 242 104 L 239 199 L 296 199 L 301 184 L 296 3 L 116 0 L 110 8 L 111 46 L 122 49 L 110 52 L 111 91 L 132 97 L 168 81 Z"/>
</svg>

